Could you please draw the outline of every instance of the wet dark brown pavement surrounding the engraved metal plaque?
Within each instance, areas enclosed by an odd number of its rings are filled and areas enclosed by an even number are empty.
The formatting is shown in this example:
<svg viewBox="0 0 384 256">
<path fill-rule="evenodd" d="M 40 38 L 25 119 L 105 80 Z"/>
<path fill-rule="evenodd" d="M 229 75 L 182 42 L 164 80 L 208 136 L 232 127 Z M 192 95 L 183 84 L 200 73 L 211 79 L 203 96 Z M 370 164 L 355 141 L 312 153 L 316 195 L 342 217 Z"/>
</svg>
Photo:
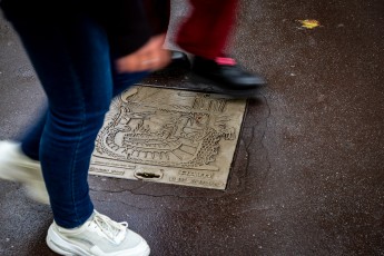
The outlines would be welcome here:
<svg viewBox="0 0 384 256">
<path fill-rule="evenodd" d="M 96 208 L 154 256 L 384 255 L 383 13 L 383 0 L 242 1 L 232 53 L 268 86 L 248 101 L 227 189 L 90 176 Z M 196 87 L 184 75 L 145 82 Z M 43 100 L 1 19 L 0 139 L 17 139 Z M 55 255 L 48 206 L 1 180 L 0 208 L 0 255 Z"/>
</svg>

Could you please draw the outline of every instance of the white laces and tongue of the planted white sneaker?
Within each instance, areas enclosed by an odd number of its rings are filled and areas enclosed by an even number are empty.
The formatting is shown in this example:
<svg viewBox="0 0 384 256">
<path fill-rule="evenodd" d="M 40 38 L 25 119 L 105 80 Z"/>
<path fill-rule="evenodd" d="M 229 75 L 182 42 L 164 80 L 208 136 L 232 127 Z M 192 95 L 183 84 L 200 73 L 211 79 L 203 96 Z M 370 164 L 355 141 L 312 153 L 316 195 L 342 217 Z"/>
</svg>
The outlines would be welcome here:
<svg viewBox="0 0 384 256">
<path fill-rule="evenodd" d="M 102 234 L 107 236 L 115 244 L 119 244 L 126 236 L 128 223 L 117 223 L 111 220 L 109 217 L 99 214 L 95 210 L 92 223 L 95 223 Z"/>
</svg>

